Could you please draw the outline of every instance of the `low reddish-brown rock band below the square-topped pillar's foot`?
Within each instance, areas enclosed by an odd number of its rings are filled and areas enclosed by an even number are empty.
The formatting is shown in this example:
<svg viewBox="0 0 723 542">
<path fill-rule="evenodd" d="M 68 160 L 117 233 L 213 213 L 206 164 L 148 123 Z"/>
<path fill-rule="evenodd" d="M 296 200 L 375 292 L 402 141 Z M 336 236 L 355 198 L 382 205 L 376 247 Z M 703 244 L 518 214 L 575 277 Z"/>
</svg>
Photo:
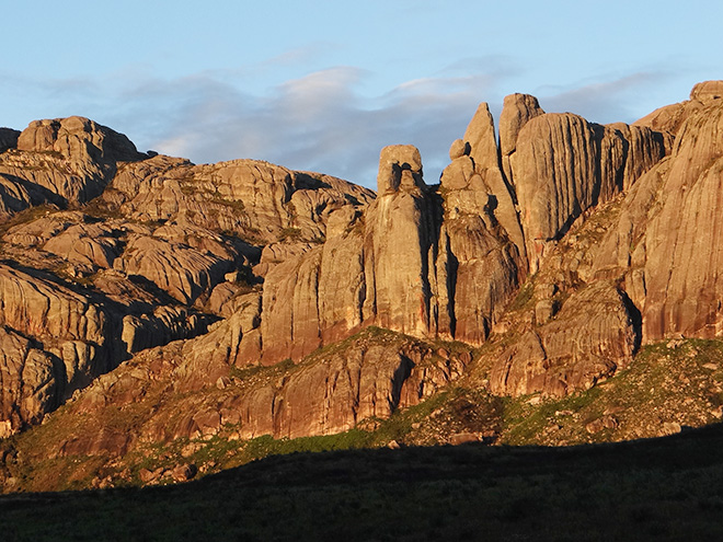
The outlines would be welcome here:
<svg viewBox="0 0 723 542">
<path fill-rule="evenodd" d="M 243 439 L 330 435 L 417 404 L 460 378 L 471 361 L 469 350 L 435 349 L 370 327 L 297 366 L 252 369 L 229 378 L 232 359 L 223 361 L 216 353 L 230 328 L 219 324 L 183 346 L 140 354 L 135 362 L 100 378 L 71 408 L 90 415 L 89 424 L 102 426 L 115 408 L 156 401 L 153 415 L 137 419 L 140 428 L 123 441 L 130 447 L 138 435 L 154 441 L 208 438 L 228 426 L 236 426 Z M 60 453 L 97 453 L 103 446 L 117 453 L 118 442 L 105 440 L 70 437 L 66 441 L 72 446 L 60 447 Z"/>
</svg>

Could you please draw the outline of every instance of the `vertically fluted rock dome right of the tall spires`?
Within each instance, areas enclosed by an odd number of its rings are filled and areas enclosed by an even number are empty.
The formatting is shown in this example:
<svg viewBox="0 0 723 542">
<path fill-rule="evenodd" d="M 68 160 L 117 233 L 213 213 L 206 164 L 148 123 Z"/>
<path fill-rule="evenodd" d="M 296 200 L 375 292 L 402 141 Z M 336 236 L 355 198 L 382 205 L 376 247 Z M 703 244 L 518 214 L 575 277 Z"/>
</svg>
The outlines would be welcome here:
<svg viewBox="0 0 723 542">
<path fill-rule="evenodd" d="M 630 186 L 664 154 L 663 136 L 647 128 L 602 127 L 569 113 L 529 120 L 510 166 L 530 270 L 538 269 L 548 241 Z"/>
</svg>

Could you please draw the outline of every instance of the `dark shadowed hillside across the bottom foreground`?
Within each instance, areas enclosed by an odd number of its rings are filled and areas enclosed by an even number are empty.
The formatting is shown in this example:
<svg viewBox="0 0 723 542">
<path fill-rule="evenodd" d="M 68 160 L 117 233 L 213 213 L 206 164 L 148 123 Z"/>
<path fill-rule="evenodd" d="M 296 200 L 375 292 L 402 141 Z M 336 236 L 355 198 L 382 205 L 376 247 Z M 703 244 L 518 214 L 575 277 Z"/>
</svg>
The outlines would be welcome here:
<svg viewBox="0 0 723 542">
<path fill-rule="evenodd" d="M 0 497 L 3 540 L 554 540 L 723 537 L 723 427 L 570 448 L 273 457 L 168 487 Z"/>
</svg>

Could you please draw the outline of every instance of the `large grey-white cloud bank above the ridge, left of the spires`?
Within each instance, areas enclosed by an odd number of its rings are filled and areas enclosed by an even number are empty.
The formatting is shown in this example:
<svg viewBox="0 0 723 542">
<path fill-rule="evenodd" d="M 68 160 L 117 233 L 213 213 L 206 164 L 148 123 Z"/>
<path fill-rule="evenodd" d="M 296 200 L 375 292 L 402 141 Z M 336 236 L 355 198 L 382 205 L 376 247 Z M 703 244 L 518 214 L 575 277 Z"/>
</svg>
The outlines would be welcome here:
<svg viewBox="0 0 723 542">
<path fill-rule="evenodd" d="M 251 95 L 209 73 L 147 80 L 123 91 L 119 124 L 141 147 L 215 162 L 255 158 L 374 186 L 381 147 L 420 147 L 427 181 L 447 162 L 477 104 L 494 92 L 487 74 L 410 81 L 380 96 L 359 92 L 370 73 L 336 67 Z M 145 148 L 144 147 L 144 148 Z"/>
</svg>

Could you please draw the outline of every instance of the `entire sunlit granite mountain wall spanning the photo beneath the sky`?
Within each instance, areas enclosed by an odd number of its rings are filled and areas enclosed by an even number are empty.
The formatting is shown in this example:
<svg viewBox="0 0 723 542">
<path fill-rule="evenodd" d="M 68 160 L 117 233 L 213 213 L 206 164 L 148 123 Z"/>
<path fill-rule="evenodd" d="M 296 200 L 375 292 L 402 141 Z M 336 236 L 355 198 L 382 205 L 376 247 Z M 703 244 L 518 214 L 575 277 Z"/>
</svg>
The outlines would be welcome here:
<svg viewBox="0 0 723 542">
<path fill-rule="evenodd" d="M 372 430 L 452 389 L 492 420 L 501 397 L 561 400 L 645 345 L 720 337 L 722 96 L 709 81 L 601 126 L 514 94 L 498 136 L 479 106 L 439 183 L 413 146 L 382 149 L 376 193 L 141 153 L 81 117 L 3 128 L 5 465 L 51 426 L 54 457 L 107 465 Z M 496 439 L 485 424 L 432 425 Z"/>
</svg>

